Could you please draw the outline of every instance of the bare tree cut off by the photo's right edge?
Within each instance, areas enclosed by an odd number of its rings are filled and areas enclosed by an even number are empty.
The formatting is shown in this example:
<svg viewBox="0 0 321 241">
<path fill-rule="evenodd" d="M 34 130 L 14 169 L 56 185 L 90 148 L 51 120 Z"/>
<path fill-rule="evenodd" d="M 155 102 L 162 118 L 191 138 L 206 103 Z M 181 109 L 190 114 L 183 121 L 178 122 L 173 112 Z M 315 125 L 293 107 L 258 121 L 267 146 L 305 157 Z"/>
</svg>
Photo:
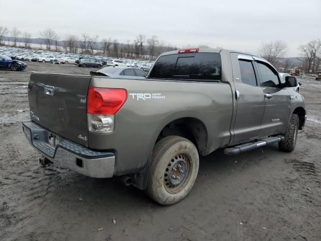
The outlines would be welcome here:
<svg viewBox="0 0 321 241">
<path fill-rule="evenodd" d="M 306 71 L 314 72 L 318 66 L 317 64 L 317 56 L 321 56 L 321 41 L 311 40 L 305 45 L 300 45 L 298 50 L 301 54 L 307 59 L 307 69 Z M 316 60 L 316 61 L 315 61 Z"/>
</svg>

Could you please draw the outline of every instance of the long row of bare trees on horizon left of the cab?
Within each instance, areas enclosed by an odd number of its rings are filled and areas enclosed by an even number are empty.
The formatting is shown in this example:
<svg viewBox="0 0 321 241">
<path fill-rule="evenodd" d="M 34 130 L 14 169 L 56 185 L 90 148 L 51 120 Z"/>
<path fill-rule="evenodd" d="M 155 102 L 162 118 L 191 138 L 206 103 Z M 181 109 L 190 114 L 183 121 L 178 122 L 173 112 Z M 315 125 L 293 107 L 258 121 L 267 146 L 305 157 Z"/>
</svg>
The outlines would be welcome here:
<svg viewBox="0 0 321 241">
<path fill-rule="evenodd" d="M 6 27 L 0 26 L 0 45 L 4 45 L 5 37 L 13 38 L 13 47 L 17 46 L 20 36 L 20 41 L 24 43 L 25 48 L 30 48 L 31 34 L 28 32 L 22 33 L 17 28 L 11 31 Z M 66 35 L 63 39 L 52 29 L 48 28 L 39 32 L 39 37 L 43 40 L 43 44 L 48 51 L 61 51 L 61 48 L 66 53 L 82 53 L 91 55 L 103 55 L 111 57 L 128 57 L 140 59 L 155 59 L 159 54 L 177 49 L 176 46 L 166 45 L 165 41 L 161 41 L 157 36 L 147 37 L 139 34 L 131 41 L 119 43 L 117 39 L 102 38 L 98 35 L 90 36 L 83 33 L 80 37 L 76 35 Z"/>
</svg>

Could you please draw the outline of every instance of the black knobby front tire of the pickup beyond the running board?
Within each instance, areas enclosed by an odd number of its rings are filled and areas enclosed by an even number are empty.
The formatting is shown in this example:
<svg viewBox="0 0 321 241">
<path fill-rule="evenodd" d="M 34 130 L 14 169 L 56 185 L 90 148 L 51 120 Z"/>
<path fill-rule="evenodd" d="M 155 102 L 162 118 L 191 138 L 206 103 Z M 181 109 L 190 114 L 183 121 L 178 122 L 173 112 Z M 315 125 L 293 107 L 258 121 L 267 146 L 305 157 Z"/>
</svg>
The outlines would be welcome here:
<svg viewBox="0 0 321 241">
<path fill-rule="evenodd" d="M 299 129 L 299 116 L 292 114 L 290 122 L 286 128 L 284 141 L 279 142 L 279 149 L 284 152 L 292 152 L 295 148 L 297 131 Z"/>
</svg>

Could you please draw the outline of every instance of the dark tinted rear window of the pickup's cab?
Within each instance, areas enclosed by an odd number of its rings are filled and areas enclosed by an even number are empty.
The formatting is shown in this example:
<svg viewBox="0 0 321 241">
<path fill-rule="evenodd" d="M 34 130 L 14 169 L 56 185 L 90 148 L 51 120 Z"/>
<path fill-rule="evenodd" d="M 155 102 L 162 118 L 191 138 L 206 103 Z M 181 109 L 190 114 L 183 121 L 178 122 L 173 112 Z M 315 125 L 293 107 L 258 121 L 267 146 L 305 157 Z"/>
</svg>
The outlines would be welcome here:
<svg viewBox="0 0 321 241">
<path fill-rule="evenodd" d="M 221 80 L 218 53 L 173 54 L 159 57 L 149 78 L 184 80 Z"/>
</svg>

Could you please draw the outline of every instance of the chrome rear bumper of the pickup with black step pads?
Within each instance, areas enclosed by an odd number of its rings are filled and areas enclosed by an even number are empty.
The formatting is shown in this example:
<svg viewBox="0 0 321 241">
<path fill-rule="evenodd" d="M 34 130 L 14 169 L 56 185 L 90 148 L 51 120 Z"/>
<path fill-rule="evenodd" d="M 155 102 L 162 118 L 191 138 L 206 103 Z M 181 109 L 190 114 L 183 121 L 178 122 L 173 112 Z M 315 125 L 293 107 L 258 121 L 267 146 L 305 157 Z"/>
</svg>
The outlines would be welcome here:
<svg viewBox="0 0 321 241">
<path fill-rule="evenodd" d="M 59 166 L 89 177 L 113 176 L 114 153 L 90 150 L 59 137 L 32 121 L 23 122 L 23 131 L 30 145 Z"/>
</svg>

